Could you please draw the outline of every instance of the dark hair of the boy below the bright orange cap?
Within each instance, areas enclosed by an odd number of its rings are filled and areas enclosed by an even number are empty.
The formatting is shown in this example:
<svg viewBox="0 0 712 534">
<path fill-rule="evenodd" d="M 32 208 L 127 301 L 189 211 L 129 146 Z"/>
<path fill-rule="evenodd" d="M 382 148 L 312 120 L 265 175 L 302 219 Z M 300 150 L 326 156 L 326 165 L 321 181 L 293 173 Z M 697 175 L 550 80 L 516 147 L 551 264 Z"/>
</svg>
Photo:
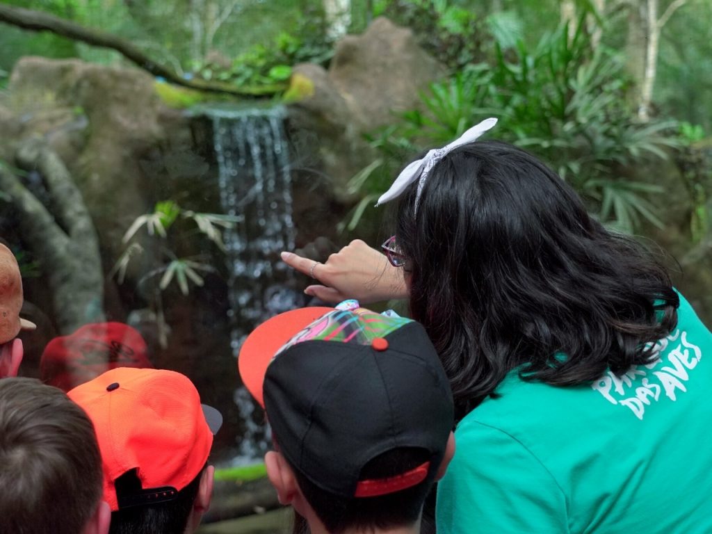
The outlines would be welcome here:
<svg viewBox="0 0 712 534">
<path fill-rule="evenodd" d="M 183 534 L 188 525 L 188 519 L 198 494 L 200 479 L 203 476 L 204 470 L 204 468 L 201 469 L 198 476 L 179 491 L 177 496 L 171 501 L 135 506 L 133 508 L 125 508 L 112 512 L 109 533 Z M 140 481 L 136 476 L 136 471 L 129 471 L 120 478 L 117 478 L 115 483 L 116 493 L 118 495 L 121 495 L 123 491 L 132 493 L 136 484 L 138 484 L 138 488 L 140 488 Z"/>
</svg>

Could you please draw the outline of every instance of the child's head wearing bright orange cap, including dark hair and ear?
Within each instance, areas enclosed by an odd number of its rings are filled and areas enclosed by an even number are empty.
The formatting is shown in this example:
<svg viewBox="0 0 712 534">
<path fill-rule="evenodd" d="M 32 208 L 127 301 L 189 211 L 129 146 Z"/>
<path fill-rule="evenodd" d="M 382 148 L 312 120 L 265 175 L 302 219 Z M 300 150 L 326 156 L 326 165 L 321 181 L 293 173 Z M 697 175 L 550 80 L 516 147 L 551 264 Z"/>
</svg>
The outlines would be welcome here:
<svg viewBox="0 0 712 534">
<path fill-rule="evenodd" d="M 72 389 L 96 429 L 111 533 L 184 532 L 209 505 L 222 423 L 178 372 L 117 367 Z"/>
</svg>

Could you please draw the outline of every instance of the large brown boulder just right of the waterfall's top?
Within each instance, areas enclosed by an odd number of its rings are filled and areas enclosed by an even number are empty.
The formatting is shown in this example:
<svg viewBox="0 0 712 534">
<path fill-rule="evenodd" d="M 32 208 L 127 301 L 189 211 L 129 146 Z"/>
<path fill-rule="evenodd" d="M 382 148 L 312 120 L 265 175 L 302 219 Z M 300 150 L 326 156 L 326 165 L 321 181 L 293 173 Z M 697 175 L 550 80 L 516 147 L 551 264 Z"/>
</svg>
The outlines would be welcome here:
<svg viewBox="0 0 712 534">
<path fill-rule="evenodd" d="M 338 201 L 353 201 L 349 180 L 376 157 L 364 134 L 392 123 L 394 113 L 419 107 L 420 91 L 444 73 L 412 31 L 384 18 L 360 36 L 343 38 L 328 71 L 295 66 L 286 95 L 290 137 L 319 171 L 310 179 L 326 177 Z"/>
</svg>

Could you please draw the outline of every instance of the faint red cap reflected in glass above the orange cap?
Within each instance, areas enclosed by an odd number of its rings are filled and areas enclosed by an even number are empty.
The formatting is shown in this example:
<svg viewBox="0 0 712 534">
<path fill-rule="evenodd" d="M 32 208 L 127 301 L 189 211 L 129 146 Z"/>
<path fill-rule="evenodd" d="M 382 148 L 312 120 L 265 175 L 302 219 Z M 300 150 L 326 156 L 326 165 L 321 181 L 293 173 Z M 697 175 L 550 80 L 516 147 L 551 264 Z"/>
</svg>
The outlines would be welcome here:
<svg viewBox="0 0 712 534">
<path fill-rule="evenodd" d="M 116 367 L 153 368 L 146 342 L 124 323 L 92 323 L 48 342 L 40 360 L 43 382 L 69 391 Z"/>
</svg>

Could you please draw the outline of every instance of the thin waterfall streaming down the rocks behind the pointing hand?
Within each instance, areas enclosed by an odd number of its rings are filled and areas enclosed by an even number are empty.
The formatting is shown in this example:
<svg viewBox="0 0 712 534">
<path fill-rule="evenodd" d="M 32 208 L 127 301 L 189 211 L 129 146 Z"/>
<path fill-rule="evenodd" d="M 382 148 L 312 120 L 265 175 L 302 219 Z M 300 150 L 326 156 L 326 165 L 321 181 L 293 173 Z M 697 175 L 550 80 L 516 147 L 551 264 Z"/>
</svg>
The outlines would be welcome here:
<svg viewBox="0 0 712 534">
<path fill-rule="evenodd" d="M 288 145 L 281 107 L 210 110 L 219 167 L 224 213 L 236 216 L 225 234 L 229 262 L 231 347 L 236 355 L 246 335 L 262 320 L 301 305 L 293 273 L 279 253 L 294 248 Z M 234 400 L 244 420 L 239 457 L 251 461 L 263 454 L 266 429 L 256 419 L 244 388 Z"/>
</svg>

